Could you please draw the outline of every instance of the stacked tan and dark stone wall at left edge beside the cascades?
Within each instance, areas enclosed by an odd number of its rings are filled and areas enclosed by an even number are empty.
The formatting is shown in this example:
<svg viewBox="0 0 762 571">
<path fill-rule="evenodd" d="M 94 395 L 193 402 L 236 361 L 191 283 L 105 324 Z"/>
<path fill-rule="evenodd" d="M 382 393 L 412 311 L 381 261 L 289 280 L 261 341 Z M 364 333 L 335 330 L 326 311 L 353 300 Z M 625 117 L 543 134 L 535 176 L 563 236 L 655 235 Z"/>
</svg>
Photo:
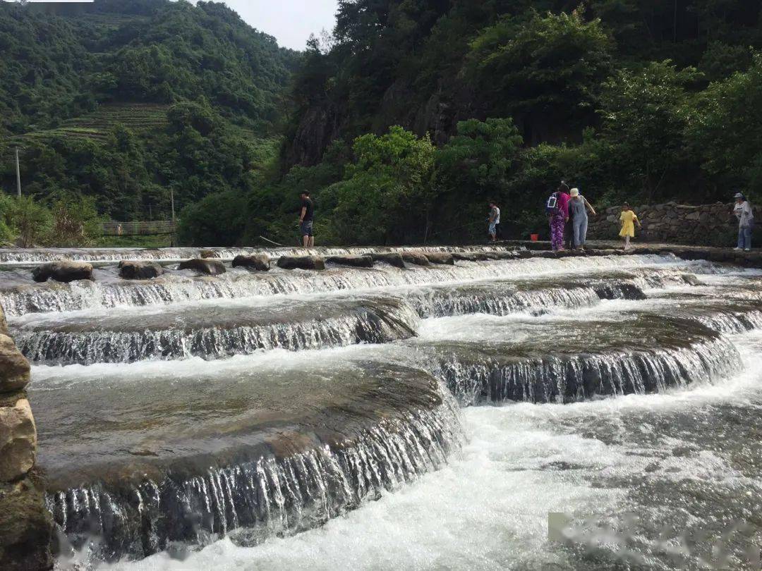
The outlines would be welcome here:
<svg viewBox="0 0 762 571">
<path fill-rule="evenodd" d="M 24 388 L 29 363 L 16 348 L 0 308 L 0 569 L 52 569 L 52 524 L 34 471 L 37 429 Z"/>
</svg>

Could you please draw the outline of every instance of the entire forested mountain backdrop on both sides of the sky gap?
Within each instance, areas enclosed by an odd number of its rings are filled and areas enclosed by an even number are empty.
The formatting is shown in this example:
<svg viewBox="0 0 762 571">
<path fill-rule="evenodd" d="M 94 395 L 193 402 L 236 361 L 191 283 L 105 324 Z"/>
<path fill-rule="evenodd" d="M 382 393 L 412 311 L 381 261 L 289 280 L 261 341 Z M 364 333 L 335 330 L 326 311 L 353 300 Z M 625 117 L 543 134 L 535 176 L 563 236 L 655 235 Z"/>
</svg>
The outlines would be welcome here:
<svg viewBox="0 0 762 571">
<path fill-rule="evenodd" d="M 293 243 L 305 188 L 323 244 L 478 239 L 488 198 L 543 231 L 562 179 L 762 199 L 762 0 L 339 0 L 304 53 L 214 2 L 50 6 L 0 3 L 2 187 L 22 145 L 42 201 L 174 190 L 189 243 Z"/>
</svg>

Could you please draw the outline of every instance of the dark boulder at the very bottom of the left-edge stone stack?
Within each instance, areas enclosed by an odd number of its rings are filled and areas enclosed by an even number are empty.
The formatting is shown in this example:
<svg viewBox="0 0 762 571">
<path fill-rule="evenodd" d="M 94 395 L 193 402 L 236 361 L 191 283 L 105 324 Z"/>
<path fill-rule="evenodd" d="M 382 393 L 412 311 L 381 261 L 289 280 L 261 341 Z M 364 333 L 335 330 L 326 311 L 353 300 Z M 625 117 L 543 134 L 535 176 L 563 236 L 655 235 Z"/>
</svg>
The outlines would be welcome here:
<svg viewBox="0 0 762 571">
<path fill-rule="evenodd" d="M 52 537 L 43 484 L 36 477 L 0 483 L 0 569 L 53 569 Z"/>
</svg>

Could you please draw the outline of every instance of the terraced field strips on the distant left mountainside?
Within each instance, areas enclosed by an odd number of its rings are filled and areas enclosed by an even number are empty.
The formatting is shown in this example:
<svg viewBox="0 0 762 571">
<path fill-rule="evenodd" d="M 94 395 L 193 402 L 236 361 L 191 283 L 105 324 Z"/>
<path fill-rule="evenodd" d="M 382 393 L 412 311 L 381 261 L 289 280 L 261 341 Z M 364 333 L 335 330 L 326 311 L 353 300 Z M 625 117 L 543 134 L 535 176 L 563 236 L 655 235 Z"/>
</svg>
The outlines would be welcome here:
<svg viewBox="0 0 762 571">
<path fill-rule="evenodd" d="M 94 113 L 66 120 L 56 129 L 32 131 L 11 138 L 22 144 L 30 139 L 48 141 L 57 137 L 103 141 L 115 126 L 121 124 L 136 134 L 162 129 L 167 123 L 168 105 L 104 104 Z"/>
</svg>

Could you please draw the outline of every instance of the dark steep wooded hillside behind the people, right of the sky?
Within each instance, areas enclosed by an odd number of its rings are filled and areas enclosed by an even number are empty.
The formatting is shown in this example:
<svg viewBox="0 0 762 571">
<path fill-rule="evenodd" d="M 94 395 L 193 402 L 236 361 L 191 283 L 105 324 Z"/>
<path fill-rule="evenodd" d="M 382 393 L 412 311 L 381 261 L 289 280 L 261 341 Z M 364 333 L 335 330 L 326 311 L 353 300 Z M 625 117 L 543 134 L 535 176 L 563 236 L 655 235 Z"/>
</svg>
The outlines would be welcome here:
<svg viewBox="0 0 762 571">
<path fill-rule="evenodd" d="M 489 197 L 543 231 L 562 179 L 600 205 L 762 196 L 760 47 L 758 0 L 342 0 L 283 161 L 337 241 L 479 238 Z"/>
</svg>

